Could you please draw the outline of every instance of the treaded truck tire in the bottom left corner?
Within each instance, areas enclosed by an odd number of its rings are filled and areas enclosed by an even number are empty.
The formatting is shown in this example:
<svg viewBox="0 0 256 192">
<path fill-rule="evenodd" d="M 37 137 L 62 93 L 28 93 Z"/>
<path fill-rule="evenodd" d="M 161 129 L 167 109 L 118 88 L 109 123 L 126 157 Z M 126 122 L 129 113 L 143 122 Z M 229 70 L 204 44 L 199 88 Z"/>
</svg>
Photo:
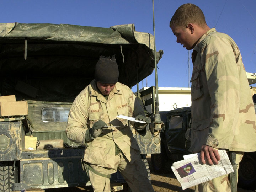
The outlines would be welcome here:
<svg viewBox="0 0 256 192">
<path fill-rule="evenodd" d="M 0 162 L 0 191 L 11 192 L 15 183 L 15 174 L 12 171 L 13 162 Z"/>
</svg>

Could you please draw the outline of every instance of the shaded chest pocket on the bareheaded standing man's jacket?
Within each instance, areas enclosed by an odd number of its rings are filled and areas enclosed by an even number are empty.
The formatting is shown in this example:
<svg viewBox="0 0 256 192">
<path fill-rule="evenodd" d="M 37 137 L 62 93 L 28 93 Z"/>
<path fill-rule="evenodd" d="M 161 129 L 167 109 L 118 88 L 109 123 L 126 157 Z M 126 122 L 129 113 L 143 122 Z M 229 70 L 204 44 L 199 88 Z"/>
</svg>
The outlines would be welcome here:
<svg viewBox="0 0 256 192">
<path fill-rule="evenodd" d="M 203 95 L 202 83 L 200 81 L 199 65 L 194 66 L 190 82 L 191 82 L 191 98 L 192 100 L 196 100 Z"/>
</svg>

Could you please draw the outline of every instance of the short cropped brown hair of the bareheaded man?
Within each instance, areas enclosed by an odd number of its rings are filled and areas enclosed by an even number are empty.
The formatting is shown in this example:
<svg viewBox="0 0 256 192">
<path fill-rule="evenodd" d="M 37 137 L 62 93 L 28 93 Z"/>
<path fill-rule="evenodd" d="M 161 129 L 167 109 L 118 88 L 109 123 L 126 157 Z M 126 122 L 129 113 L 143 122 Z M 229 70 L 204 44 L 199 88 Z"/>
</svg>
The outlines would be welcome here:
<svg viewBox="0 0 256 192">
<path fill-rule="evenodd" d="M 170 21 L 170 27 L 176 26 L 185 30 L 188 23 L 194 23 L 200 27 L 206 25 L 203 11 L 191 3 L 183 4 L 175 11 Z"/>
</svg>

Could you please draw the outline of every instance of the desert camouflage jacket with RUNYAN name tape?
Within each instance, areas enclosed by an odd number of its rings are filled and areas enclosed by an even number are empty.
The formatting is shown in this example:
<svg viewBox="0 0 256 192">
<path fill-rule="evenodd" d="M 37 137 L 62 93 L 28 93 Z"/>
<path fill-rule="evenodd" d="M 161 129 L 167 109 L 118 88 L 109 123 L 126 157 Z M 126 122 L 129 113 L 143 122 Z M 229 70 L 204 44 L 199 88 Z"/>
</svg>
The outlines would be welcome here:
<svg viewBox="0 0 256 192">
<path fill-rule="evenodd" d="M 102 167 L 113 168 L 115 143 L 129 162 L 133 163 L 140 155 L 140 149 L 128 126 L 128 121 L 116 116 L 135 117 L 144 114 L 143 108 L 135 99 L 132 90 L 126 85 L 116 83 L 108 100 L 97 91 L 93 80 L 74 100 L 66 127 L 68 138 L 82 146 L 87 146 L 84 161 Z M 85 142 L 86 130 L 99 119 L 108 124 L 102 134 L 90 142 Z"/>
</svg>

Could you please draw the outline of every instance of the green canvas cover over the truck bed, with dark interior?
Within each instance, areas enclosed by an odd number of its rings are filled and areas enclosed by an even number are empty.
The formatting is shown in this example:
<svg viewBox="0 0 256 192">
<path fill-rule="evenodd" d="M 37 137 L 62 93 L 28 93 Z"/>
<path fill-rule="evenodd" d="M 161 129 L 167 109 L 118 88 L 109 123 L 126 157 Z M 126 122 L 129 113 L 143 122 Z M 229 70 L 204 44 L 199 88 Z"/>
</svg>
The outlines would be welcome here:
<svg viewBox="0 0 256 192">
<path fill-rule="evenodd" d="M 156 52 L 157 62 L 162 53 Z M 133 24 L 101 28 L 0 23 L 1 95 L 72 102 L 94 79 L 100 55 L 115 55 L 118 81 L 132 87 L 154 70 L 154 39 L 136 32 Z M 32 92 L 21 94 L 20 82 L 29 84 Z"/>
</svg>

